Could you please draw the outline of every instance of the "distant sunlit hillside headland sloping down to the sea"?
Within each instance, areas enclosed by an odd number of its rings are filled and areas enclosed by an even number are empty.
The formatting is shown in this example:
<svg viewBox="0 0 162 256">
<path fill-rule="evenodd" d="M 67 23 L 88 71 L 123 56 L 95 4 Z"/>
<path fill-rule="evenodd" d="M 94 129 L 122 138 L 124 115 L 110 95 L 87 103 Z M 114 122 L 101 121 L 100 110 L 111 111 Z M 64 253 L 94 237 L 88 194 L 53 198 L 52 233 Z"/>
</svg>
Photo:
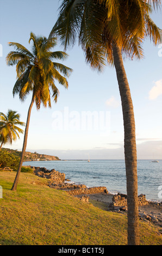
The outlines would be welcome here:
<svg viewBox="0 0 162 256">
<path fill-rule="evenodd" d="M 3 148 L 2 150 L 7 150 L 10 153 L 13 153 L 17 156 L 21 156 L 21 151 L 14 150 L 14 149 L 8 149 L 8 148 Z M 51 156 L 51 155 L 45 155 L 45 154 L 38 154 L 36 152 L 31 153 L 31 152 L 26 152 L 24 156 L 24 161 L 59 161 L 58 156 Z"/>
</svg>

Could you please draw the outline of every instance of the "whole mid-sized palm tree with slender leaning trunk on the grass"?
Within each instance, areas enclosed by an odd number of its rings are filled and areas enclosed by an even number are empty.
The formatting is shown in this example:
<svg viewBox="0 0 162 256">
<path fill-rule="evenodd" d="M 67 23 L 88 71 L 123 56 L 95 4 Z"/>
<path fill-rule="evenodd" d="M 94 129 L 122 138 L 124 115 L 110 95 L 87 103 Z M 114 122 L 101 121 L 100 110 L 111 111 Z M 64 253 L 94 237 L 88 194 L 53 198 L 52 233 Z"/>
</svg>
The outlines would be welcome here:
<svg viewBox="0 0 162 256">
<path fill-rule="evenodd" d="M 54 81 L 58 81 L 65 88 L 68 87 L 68 82 L 64 76 L 69 76 L 72 69 L 67 66 L 52 62 L 53 59 L 64 60 L 67 54 L 61 51 L 51 51 L 57 45 L 57 38 L 47 39 L 45 36 L 36 36 L 30 33 L 30 41 L 33 41 L 32 51 L 17 42 L 10 42 L 9 46 L 14 46 L 16 51 L 11 51 L 7 55 L 7 64 L 16 64 L 17 81 L 13 88 L 13 95 L 19 94 L 20 100 L 24 101 L 26 96 L 32 92 L 32 101 L 30 103 L 27 115 L 26 130 L 24 133 L 23 148 L 21 153 L 20 164 L 17 170 L 16 178 L 11 190 L 16 191 L 18 178 L 20 176 L 21 167 L 24 159 L 24 154 L 27 147 L 27 137 L 30 113 L 34 102 L 36 108 L 40 105 L 51 107 L 51 93 L 55 102 L 59 95 L 59 90 L 55 86 Z M 64 76 L 60 74 L 62 72 Z"/>
</svg>

